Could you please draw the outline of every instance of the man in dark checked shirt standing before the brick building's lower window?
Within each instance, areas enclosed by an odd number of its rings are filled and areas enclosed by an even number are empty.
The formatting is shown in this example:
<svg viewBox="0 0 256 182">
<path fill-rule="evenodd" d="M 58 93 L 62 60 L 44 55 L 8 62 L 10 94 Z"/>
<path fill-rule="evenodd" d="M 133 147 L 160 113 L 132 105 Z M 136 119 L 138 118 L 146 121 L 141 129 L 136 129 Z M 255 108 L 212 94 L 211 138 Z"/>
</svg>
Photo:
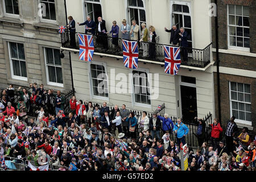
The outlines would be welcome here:
<svg viewBox="0 0 256 182">
<path fill-rule="evenodd" d="M 234 122 L 235 119 L 236 117 L 232 116 L 230 118 L 230 121 L 226 125 L 225 135 L 226 135 L 226 148 L 228 149 L 228 154 L 232 152 L 233 137 L 237 133 L 237 124 L 236 122 Z"/>
</svg>

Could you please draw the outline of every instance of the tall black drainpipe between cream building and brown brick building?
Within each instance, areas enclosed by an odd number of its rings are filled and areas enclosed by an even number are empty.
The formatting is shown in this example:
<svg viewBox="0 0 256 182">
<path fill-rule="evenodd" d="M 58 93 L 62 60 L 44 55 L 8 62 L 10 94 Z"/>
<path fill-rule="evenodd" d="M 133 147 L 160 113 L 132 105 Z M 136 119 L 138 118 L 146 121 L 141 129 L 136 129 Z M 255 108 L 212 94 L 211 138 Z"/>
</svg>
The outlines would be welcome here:
<svg viewBox="0 0 256 182">
<path fill-rule="evenodd" d="M 218 7 L 217 0 L 214 0 L 216 4 L 216 16 L 215 16 L 215 44 L 216 44 L 216 64 L 217 64 L 217 92 L 218 92 L 218 120 L 221 123 L 221 93 L 220 93 L 220 60 L 218 57 Z"/>
</svg>

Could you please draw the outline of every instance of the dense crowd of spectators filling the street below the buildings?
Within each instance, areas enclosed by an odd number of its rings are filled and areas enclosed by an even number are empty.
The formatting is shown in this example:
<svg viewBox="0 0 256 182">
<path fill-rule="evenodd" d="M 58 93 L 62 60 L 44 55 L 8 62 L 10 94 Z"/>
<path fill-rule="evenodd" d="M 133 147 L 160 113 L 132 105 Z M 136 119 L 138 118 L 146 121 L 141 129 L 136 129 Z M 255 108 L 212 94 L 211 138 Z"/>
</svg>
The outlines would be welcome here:
<svg viewBox="0 0 256 182">
<path fill-rule="evenodd" d="M 180 149 L 186 143 L 188 127 L 175 123 L 165 113 L 141 116 L 106 102 L 69 100 L 70 112 L 64 113 L 65 98 L 60 91 L 44 90 L 43 84 L 30 88 L 13 85 L 3 90 L 0 102 L 0 158 L 3 163 L 26 163 L 26 170 L 50 165 L 61 171 L 179 171 Z M 15 104 L 15 93 L 19 94 Z M 36 117 L 31 117 L 34 108 Z M 67 114 L 67 115 L 65 115 Z M 245 127 L 240 135 L 232 117 L 224 133 L 214 119 L 210 144 L 205 142 L 205 122 L 195 118 L 198 149 L 189 148 L 189 171 L 255 170 L 255 140 L 249 140 Z M 225 137 L 221 135 L 225 134 Z M 172 140 L 171 135 L 174 136 Z M 203 137 L 202 137 L 203 136 Z M 18 160 L 19 159 L 19 160 Z M 1 165 L 2 167 L 2 165 Z"/>
</svg>

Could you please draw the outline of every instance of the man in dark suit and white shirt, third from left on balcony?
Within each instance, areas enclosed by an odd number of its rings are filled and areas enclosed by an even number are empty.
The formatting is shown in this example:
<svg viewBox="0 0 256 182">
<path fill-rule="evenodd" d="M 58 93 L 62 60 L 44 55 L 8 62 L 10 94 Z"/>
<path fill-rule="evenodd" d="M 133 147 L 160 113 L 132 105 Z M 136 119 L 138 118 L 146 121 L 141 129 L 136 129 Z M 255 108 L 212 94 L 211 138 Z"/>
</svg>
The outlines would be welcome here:
<svg viewBox="0 0 256 182">
<path fill-rule="evenodd" d="M 106 30 L 105 20 L 99 16 L 96 26 L 97 44 L 100 44 L 105 51 L 108 50 L 108 34 L 106 32 L 108 31 Z"/>
</svg>

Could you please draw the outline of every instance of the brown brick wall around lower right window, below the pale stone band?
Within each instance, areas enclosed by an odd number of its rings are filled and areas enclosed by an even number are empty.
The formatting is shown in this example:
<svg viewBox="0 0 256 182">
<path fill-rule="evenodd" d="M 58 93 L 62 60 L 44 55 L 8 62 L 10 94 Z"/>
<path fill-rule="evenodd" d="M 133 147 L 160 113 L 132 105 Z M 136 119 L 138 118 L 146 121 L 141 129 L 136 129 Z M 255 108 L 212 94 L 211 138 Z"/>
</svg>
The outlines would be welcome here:
<svg viewBox="0 0 256 182">
<path fill-rule="evenodd" d="M 250 77 L 242 77 L 236 75 L 228 75 L 220 73 L 220 92 L 221 92 L 221 118 L 222 125 L 230 119 L 230 103 L 229 103 L 229 81 L 240 82 L 251 85 L 251 121 L 254 133 L 256 132 L 256 79 Z M 214 73 L 214 97 L 216 118 L 218 118 L 218 95 L 217 95 L 217 73 Z"/>
</svg>

